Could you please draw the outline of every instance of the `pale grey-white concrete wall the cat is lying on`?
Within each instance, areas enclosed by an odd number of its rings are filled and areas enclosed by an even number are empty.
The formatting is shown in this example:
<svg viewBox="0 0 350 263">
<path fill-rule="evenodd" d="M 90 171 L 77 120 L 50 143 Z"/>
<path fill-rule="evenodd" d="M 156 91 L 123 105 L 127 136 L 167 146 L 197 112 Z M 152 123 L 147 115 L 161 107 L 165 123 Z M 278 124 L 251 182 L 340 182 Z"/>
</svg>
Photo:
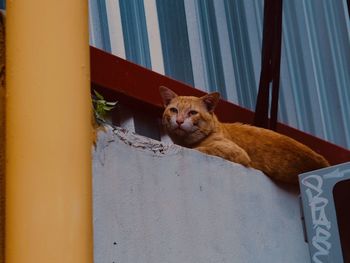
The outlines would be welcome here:
<svg viewBox="0 0 350 263">
<path fill-rule="evenodd" d="M 94 151 L 95 263 L 303 263 L 298 197 L 259 171 L 125 130 Z"/>
</svg>

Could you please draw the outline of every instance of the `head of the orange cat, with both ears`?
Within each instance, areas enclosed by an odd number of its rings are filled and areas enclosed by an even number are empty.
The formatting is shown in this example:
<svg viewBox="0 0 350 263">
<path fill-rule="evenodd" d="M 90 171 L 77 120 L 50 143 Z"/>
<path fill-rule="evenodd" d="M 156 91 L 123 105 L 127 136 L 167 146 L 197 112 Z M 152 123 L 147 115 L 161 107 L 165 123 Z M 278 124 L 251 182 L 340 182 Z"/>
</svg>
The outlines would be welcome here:
<svg viewBox="0 0 350 263">
<path fill-rule="evenodd" d="M 175 143 L 191 147 L 216 129 L 214 110 L 220 98 L 218 92 L 192 97 L 178 96 L 164 86 L 159 90 L 165 107 L 163 126 Z"/>
</svg>

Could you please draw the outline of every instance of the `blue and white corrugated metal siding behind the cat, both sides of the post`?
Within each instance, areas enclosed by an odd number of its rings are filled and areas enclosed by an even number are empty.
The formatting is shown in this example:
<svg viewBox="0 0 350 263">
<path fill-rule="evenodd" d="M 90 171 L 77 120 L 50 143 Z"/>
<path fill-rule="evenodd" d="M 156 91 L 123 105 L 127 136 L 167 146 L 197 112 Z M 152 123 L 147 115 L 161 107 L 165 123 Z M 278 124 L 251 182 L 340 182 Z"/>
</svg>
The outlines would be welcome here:
<svg viewBox="0 0 350 263">
<path fill-rule="evenodd" d="M 262 19 L 262 0 L 90 0 L 93 46 L 250 109 Z M 348 148 L 349 40 L 346 0 L 284 1 L 279 120 Z"/>
</svg>

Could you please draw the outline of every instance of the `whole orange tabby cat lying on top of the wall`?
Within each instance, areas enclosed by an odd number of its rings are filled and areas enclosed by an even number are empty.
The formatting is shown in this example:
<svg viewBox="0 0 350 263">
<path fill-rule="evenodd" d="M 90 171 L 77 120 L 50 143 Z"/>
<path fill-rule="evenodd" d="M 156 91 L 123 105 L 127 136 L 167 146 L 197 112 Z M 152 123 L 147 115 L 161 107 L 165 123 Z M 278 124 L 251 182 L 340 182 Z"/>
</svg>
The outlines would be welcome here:
<svg viewBox="0 0 350 263">
<path fill-rule="evenodd" d="M 297 183 L 297 175 L 329 166 L 307 146 L 271 130 L 221 123 L 214 114 L 219 93 L 178 96 L 160 87 L 163 126 L 174 143 L 263 171 L 273 179 Z"/>
</svg>

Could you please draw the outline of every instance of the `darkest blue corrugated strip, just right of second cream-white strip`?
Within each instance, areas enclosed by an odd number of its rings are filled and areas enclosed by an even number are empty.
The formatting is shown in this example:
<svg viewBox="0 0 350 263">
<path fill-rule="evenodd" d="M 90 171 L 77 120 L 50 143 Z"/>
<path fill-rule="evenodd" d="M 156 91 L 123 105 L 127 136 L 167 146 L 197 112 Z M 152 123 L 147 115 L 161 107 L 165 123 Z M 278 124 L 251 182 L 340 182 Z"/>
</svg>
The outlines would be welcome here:
<svg viewBox="0 0 350 263">
<path fill-rule="evenodd" d="M 165 74 L 193 86 L 184 2 L 157 0 L 157 10 Z"/>
</svg>

